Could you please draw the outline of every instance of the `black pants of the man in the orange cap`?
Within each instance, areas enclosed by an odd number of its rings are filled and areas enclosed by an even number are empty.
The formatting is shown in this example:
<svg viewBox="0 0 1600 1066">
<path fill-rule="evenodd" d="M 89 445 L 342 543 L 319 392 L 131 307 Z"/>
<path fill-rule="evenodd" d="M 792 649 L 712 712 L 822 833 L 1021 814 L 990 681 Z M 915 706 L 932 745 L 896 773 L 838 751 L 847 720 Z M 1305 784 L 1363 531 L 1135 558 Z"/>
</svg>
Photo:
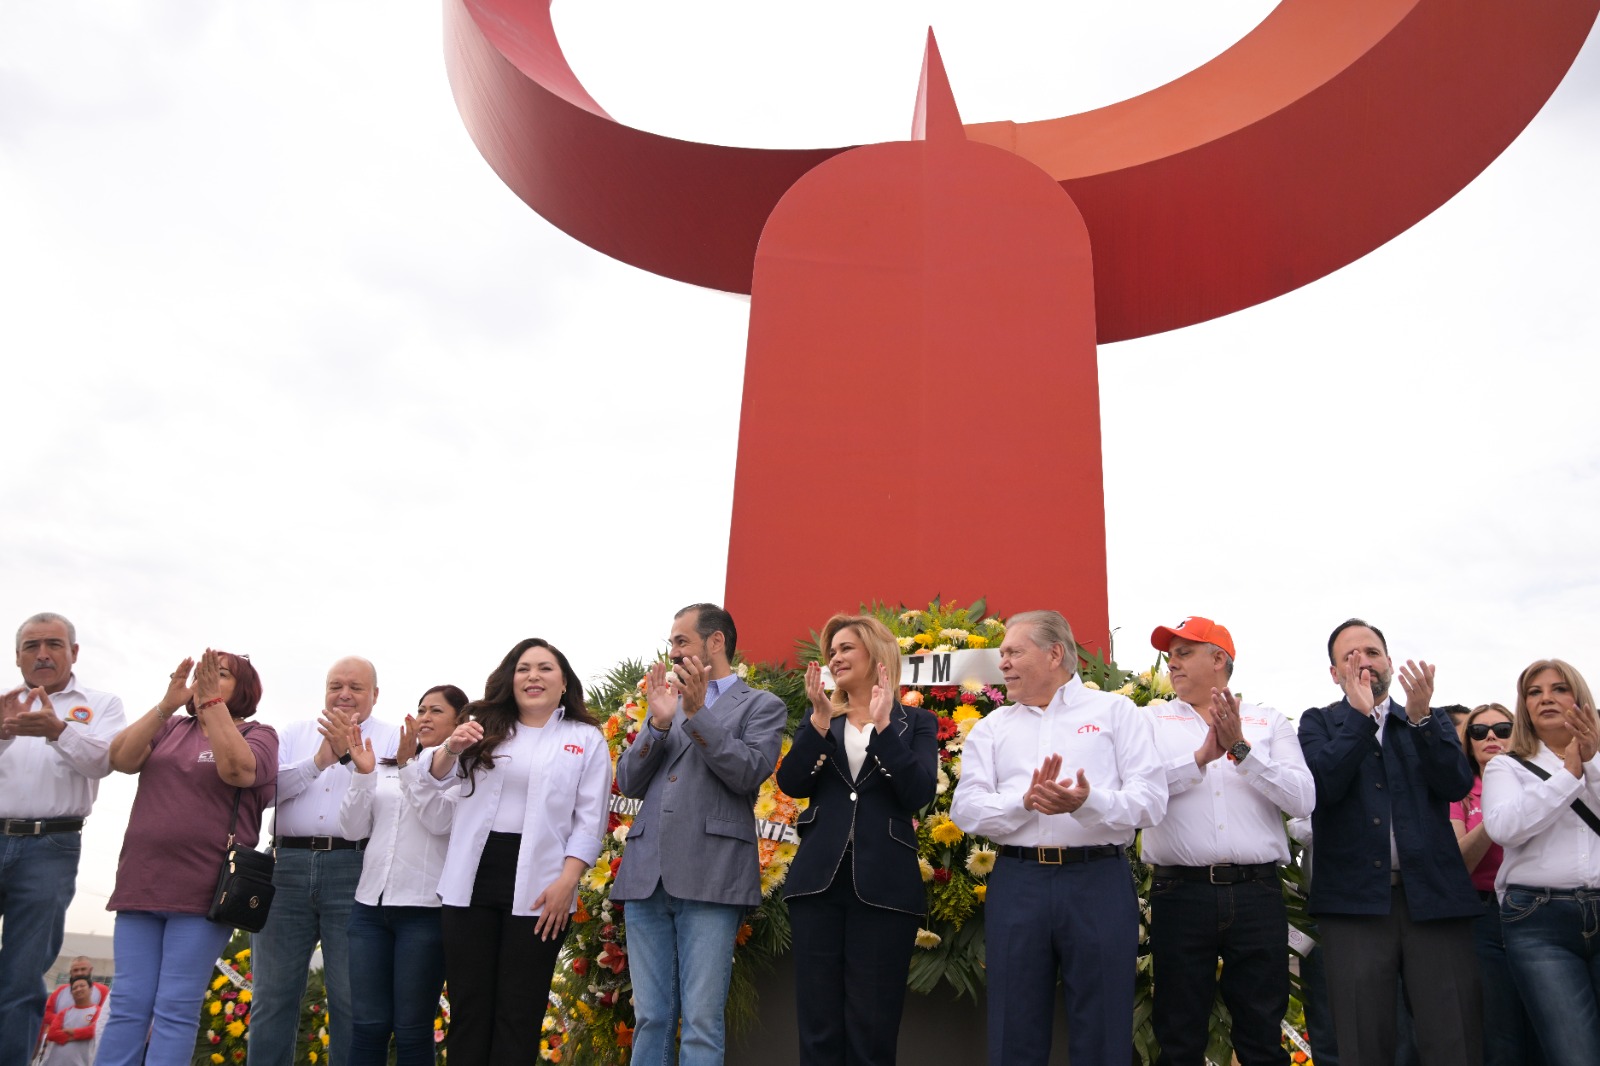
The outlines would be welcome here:
<svg viewBox="0 0 1600 1066">
<path fill-rule="evenodd" d="M 1234 1015 L 1242 1066 L 1283 1066 L 1280 1023 L 1290 1005 L 1288 914 L 1277 877 L 1211 885 L 1155 879 L 1150 965 L 1163 1066 L 1202 1066 L 1222 960 L 1222 1002 Z"/>
</svg>

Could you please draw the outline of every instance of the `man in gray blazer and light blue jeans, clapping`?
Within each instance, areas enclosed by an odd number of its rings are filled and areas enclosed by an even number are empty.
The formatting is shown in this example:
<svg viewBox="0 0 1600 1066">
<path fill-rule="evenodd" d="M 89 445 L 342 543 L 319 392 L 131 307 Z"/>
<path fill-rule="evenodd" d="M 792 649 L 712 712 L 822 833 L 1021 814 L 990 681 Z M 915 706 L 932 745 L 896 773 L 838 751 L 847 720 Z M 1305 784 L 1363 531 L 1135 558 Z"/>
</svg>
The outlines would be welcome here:
<svg viewBox="0 0 1600 1066">
<path fill-rule="evenodd" d="M 733 674 L 738 631 L 715 603 L 672 619 L 672 669 L 646 672 L 650 717 L 616 763 L 624 795 L 643 800 L 618 868 L 627 901 L 634 976 L 634 1061 L 722 1066 L 733 940 L 762 901 L 755 795 L 773 767 L 789 712 Z"/>
</svg>

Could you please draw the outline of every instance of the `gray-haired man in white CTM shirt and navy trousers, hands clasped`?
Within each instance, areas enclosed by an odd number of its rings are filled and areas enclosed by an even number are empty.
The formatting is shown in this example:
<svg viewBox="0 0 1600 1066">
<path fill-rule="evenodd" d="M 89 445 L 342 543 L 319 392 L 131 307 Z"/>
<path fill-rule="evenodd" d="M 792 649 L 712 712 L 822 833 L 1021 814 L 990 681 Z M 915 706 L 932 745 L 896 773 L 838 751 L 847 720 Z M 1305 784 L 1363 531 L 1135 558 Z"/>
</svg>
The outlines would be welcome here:
<svg viewBox="0 0 1600 1066">
<path fill-rule="evenodd" d="M 1136 829 L 1166 810 L 1150 715 L 1078 680 L 1058 611 L 1026 611 L 1000 643 L 1005 707 L 973 727 L 950 818 L 998 845 L 989 874 L 989 1066 L 1043 1066 L 1056 975 L 1074 1063 L 1131 1052 L 1139 901 Z"/>
</svg>

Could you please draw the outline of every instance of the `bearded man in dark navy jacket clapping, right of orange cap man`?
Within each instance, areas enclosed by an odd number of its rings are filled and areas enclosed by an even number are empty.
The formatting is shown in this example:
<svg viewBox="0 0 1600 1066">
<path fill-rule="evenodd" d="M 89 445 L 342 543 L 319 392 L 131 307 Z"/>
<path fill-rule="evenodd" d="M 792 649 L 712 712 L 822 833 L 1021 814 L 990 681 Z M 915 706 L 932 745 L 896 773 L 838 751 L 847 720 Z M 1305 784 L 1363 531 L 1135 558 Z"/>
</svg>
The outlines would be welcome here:
<svg viewBox="0 0 1600 1066">
<path fill-rule="evenodd" d="M 1310 912 L 1317 916 L 1339 1060 L 1394 1063 L 1400 975 L 1424 1066 L 1478 1066 L 1482 991 L 1472 919 L 1483 912 L 1450 826 L 1472 768 L 1443 711 L 1434 667 L 1400 669 L 1389 698 L 1384 634 L 1358 618 L 1328 637 L 1344 699 L 1301 715 L 1317 783 Z"/>
</svg>

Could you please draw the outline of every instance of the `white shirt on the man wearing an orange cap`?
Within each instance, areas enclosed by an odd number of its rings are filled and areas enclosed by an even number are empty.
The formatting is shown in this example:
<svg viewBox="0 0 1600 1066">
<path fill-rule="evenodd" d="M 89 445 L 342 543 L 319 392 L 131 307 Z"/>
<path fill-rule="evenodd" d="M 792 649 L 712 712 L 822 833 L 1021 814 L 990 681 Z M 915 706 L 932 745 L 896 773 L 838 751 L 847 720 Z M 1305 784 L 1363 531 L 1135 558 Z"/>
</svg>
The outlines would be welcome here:
<svg viewBox="0 0 1600 1066">
<path fill-rule="evenodd" d="M 1317 786 L 1290 720 L 1272 707 L 1238 706 L 1250 743 L 1240 763 L 1226 755 L 1195 765 L 1211 727 L 1182 699 L 1146 707 L 1155 720 L 1155 747 L 1166 768 L 1166 816 L 1139 837 L 1141 858 L 1162 866 L 1288 863 L 1286 812 L 1307 818 Z"/>
</svg>

